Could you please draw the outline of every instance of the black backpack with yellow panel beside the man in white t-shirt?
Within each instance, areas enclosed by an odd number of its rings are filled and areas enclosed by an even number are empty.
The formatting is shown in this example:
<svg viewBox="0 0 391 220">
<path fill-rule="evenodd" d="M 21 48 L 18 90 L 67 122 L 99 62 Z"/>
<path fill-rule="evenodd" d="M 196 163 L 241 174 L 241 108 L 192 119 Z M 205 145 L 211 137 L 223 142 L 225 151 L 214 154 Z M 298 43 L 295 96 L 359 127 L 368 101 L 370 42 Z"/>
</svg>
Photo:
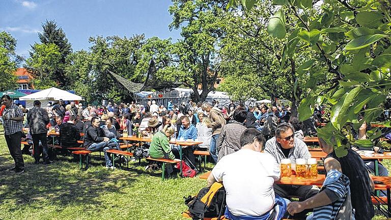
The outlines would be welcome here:
<svg viewBox="0 0 391 220">
<path fill-rule="evenodd" d="M 189 207 L 186 213 L 193 220 L 204 217 L 218 217 L 219 220 L 227 206 L 226 190 L 221 183 L 215 182 L 210 187 L 202 188 L 197 196 L 185 198 L 185 205 Z"/>
</svg>

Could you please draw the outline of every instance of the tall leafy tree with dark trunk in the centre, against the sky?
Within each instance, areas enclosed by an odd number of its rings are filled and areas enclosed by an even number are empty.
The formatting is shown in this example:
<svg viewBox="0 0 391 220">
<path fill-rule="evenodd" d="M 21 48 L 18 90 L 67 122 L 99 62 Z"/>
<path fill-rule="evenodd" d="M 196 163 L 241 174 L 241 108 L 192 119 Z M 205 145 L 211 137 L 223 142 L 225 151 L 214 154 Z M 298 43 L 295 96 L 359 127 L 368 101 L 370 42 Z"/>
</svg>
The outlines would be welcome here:
<svg viewBox="0 0 391 220">
<path fill-rule="evenodd" d="M 225 2 L 173 0 L 169 12 L 173 16 L 170 29 L 181 28 L 181 36 L 173 45 L 175 68 L 165 77 L 191 88 L 198 101 L 203 101 L 214 88 L 219 73 L 218 42 L 224 36 Z M 202 93 L 198 92 L 201 85 Z"/>
</svg>

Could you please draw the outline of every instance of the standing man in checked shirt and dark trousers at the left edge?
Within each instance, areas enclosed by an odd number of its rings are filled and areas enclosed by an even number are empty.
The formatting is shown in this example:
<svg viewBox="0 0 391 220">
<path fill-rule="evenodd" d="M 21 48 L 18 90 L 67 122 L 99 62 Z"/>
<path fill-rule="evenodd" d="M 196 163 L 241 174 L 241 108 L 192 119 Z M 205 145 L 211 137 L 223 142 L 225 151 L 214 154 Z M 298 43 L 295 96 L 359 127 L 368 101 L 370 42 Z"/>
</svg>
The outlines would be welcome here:
<svg viewBox="0 0 391 220">
<path fill-rule="evenodd" d="M 9 172 L 23 173 L 24 161 L 22 157 L 22 151 L 20 150 L 20 143 L 22 139 L 22 122 L 23 113 L 22 110 L 12 103 L 9 95 L 2 96 L 2 102 L 6 106 L 3 111 L 3 126 L 4 136 L 10 154 L 15 161 L 15 168 L 9 170 Z"/>
</svg>

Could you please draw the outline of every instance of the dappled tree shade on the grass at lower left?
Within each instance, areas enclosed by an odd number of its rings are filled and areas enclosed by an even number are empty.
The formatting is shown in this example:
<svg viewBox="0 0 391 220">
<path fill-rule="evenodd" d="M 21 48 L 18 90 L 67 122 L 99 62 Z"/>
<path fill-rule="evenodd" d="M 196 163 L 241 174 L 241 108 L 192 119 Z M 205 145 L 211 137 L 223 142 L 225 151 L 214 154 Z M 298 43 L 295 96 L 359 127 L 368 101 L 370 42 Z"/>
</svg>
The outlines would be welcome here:
<svg viewBox="0 0 391 220">
<path fill-rule="evenodd" d="M 100 196 L 120 193 L 121 188 L 131 187 L 137 177 L 137 173 L 123 175 L 100 166 L 81 171 L 78 163 L 69 163 L 66 157 L 47 166 L 34 165 L 33 159 L 26 156 L 26 172 L 15 174 L 8 172 L 13 165 L 9 158 L 5 152 L 0 154 L 0 203 L 17 205 L 9 209 L 11 212 L 18 205 L 39 208 L 40 202 L 62 206 L 104 205 Z"/>
</svg>

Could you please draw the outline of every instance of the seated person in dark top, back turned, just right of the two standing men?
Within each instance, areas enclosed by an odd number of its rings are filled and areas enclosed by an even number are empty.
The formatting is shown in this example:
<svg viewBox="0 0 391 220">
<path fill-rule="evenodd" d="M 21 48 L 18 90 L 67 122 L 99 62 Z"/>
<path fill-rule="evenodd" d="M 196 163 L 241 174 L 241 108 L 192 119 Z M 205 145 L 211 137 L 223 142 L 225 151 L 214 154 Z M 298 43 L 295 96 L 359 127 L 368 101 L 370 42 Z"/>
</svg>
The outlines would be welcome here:
<svg viewBox="0 0 391 220">
<path fill-rule="evenodd" d="M 76 116 L 72 115 L 69 120 L 60 126 L 60 143 L 61 147 L 79 147 L 77 143 L 80 140 L 80 130 L 75 126 Z"/>
</svg>

